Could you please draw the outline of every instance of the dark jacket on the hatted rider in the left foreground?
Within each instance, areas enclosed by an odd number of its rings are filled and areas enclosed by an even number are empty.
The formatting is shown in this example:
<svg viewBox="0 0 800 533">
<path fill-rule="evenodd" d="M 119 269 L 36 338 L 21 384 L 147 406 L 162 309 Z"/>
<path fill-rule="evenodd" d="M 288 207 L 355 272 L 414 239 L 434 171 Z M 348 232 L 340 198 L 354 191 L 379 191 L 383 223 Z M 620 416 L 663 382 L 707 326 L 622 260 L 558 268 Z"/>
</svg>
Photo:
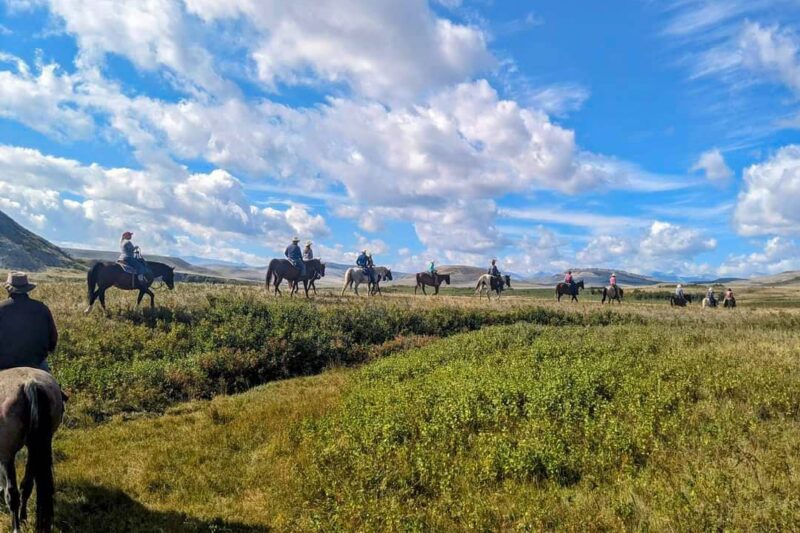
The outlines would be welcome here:
<svg viewBox="0 0 800 533">
<path fill-rule="evenodd" d="M 39 368 L 57 343 L 53 315 L 42 302 L 19 294 L 0 303 L 0 369 Z"/>
</svg>

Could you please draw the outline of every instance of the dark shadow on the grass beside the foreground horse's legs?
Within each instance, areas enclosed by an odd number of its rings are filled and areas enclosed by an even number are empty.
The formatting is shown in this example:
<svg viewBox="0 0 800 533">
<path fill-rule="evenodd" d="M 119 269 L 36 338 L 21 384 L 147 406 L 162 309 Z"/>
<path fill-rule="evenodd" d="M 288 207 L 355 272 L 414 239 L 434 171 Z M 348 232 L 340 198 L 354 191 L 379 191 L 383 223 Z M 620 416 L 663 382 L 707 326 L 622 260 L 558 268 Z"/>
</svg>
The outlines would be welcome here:
<svg viewBox="0 0 800 533">
<path fill-rule="evenodd" d="M 256 533 L 266 527 L 202 520 L 178 512 L 147 509 L 119 489 L 90 483 L 61 484 L 56 495 L 56 531 Z"/>
</svg>

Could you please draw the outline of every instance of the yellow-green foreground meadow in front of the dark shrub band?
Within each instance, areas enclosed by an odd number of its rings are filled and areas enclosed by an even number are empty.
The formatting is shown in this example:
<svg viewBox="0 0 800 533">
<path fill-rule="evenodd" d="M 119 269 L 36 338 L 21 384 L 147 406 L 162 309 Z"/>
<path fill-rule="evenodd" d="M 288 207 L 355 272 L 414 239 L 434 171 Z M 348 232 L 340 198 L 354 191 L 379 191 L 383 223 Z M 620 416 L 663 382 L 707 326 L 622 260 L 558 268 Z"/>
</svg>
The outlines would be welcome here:
<svg viewBox="0 0 800 533">
<path fill-rule="evenodd" d="M 632 314 L 493 326 L 356 371 L 65 430 L 58 524 L 800 527 L 798 314 Z"/>
</svg>

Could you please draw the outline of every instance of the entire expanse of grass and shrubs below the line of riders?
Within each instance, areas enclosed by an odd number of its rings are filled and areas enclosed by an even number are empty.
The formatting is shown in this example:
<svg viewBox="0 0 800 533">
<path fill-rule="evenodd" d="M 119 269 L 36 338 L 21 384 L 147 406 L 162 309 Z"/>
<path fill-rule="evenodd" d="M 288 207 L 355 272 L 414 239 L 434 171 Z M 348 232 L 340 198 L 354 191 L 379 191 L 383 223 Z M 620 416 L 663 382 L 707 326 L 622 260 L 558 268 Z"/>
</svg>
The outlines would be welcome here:
<svg viewBox="0 0 800 533">
<path fill-rule="evenodd" d="M 800 528 L 795 309 L 38 292 L 63 531 Z"/>
</svg>

